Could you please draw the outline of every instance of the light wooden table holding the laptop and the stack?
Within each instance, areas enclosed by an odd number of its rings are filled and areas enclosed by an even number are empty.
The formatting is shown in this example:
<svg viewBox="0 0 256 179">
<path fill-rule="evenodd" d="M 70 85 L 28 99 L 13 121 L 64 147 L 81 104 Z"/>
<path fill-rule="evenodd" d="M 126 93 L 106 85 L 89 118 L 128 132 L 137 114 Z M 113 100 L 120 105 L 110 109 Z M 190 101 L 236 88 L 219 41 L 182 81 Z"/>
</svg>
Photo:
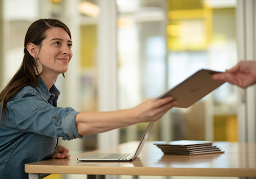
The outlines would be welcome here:
<svg viewBox="0 0 256 179">
<path fill-rule="evenodd" d="M 161 176 L 241 176 L 256 177 L 256 143 L 214 142 L 225 153 L 201 155 L 167 155 L 147 142 L 133 162 L 80 162 L 76 159 L 51 159 L 25 165 L 29 178 L 41 178 L 45 173 L 87 174 L 89 178 L 104 175 L 161 175 Z M 133 153 L 138 142 L 95 150 L 101 153 Z"/>
</svg>

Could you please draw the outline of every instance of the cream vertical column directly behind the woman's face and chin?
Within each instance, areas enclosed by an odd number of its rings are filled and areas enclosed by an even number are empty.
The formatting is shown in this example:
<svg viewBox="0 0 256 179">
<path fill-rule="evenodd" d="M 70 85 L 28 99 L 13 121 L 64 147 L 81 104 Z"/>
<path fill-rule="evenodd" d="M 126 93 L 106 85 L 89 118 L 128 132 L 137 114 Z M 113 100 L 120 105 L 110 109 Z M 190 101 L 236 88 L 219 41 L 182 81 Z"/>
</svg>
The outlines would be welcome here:
<svg viewBox="0 0 256 179">
<path fill-rule="evenodd" d="M 63 78 L 62 75 L 59 75 L 58 82 L 61 87 L 61 97 L 63 98 L 63 107 L 73 107 L 75 110 L 80 111 L 80 74 L 79 74 L 79 12 L 77 11 L 79 1 L 62 1 L 62 17 L 60 20 L 65 23 L 72 35 L 72 41 L 74 46 L 72 47 L 73 57 L 69 64 L 69 70 L 65 74 L 66 78 Z M 79 139 L 71 141 L 62 141 L 59 140 L 60 144 L 65 145 L 69 148 L 71 152 L 78 152 L 82 149 L 82 141 Z"/>
</svg>

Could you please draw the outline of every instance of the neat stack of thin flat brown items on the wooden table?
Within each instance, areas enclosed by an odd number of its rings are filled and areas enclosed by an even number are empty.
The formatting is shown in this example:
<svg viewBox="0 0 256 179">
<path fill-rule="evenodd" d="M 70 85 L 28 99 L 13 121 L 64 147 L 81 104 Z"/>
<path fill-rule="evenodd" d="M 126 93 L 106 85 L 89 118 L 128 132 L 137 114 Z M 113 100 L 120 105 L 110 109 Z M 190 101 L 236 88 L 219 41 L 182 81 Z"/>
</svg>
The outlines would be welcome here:
<svg viewBox="0 0 256 179">
<path fill-rule="evenodd" d="M 217 146 L 212 146 L 210 141 L 172 141 L 168 143 L 155 143 L 164 154 L 197 155 L 205 153 L 224 152 Z"/>
</svg>

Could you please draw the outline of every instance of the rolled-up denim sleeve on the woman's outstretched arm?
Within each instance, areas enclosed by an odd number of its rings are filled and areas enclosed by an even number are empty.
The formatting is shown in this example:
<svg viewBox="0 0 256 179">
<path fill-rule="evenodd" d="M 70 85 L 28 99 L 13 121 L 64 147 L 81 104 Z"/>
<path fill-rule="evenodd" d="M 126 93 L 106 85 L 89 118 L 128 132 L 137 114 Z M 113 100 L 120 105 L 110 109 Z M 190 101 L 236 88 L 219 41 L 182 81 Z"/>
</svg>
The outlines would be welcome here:
<svg viewBox="0 0 256 179">
<path fill-rule="evenodd" d="M 7 120 L 23 132 L 34 132 L 63 140 L 79 138 L 75 117 L 79 113 L 71 107 L 54 107 L 34 91 L 26 92 L 7 104 Z"/>
</svg>

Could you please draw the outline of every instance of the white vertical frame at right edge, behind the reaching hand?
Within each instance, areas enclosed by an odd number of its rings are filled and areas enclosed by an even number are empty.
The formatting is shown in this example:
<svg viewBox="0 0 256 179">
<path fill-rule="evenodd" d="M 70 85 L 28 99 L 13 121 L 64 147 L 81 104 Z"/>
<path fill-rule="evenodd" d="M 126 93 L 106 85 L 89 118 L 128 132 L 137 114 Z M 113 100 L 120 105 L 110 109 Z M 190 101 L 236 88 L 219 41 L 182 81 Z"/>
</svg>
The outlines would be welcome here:
<svg viewBox="0 0 256 179">
<path fill-rule="evenodd" d="M 253 0 L 237 1 L 237 46 L 239 60 L 254 59 Z M 255 142 L 255 87 L 240 89 L 238 102 L 239 141 Z"/>
</svg>

